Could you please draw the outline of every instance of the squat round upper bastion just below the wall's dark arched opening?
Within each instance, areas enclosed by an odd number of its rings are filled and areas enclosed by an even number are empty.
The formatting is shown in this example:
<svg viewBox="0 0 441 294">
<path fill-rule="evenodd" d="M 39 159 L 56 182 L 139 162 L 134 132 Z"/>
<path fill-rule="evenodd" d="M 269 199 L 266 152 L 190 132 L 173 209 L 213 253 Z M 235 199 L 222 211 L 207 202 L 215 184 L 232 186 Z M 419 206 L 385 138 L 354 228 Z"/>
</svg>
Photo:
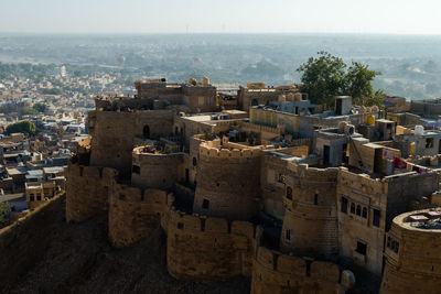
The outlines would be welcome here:
<svg viewBox="0 0 441 294">
<path fill-rule="evenodd" d="M 184 153 L 153 154 L 142 149 L 136 148 L 132 154 L 131 183 L 135 186 L 170 189 L 184 178 Z"/>
</svg>

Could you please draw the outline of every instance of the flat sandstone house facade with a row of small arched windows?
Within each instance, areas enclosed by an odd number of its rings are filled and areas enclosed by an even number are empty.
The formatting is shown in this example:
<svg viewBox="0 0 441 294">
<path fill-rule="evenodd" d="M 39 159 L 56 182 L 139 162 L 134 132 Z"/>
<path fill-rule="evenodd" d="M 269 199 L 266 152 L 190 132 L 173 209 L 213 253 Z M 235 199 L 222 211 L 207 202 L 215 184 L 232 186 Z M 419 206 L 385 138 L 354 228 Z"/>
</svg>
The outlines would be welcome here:
<svg viewBox="0 0 441 294">
<path fill-rule="evenodd" d="M 380 275 L 386 229 L 387 185 L 341 167 L 337 185 L 340 257 Z M 378 214 L 378 224 L 374 216 Z M 365 244 L 365 252 L 358 248 Z"/>
</svg>

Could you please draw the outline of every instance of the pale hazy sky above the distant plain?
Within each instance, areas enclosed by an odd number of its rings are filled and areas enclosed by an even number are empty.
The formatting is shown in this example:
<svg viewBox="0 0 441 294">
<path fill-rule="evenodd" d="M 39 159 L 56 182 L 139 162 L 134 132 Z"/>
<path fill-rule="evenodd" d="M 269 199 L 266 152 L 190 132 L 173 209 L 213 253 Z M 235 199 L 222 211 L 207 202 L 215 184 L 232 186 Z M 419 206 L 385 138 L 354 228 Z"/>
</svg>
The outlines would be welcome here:
<svg viewBox="0 0 441 294">
<path fill-rule="evenodd" d="M 0 0 L 0 32 L 441 34 L 441 0 Z"/>
</svg>

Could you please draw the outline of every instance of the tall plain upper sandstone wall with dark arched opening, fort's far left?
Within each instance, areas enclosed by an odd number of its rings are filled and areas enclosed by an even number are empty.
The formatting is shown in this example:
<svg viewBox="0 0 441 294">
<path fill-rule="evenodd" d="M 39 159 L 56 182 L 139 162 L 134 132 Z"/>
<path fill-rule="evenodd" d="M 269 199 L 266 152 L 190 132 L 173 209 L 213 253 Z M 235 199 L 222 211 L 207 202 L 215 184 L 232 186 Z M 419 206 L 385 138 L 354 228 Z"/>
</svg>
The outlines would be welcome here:
<svg viewBox="0 0 441 294">
<path fill-rule="evenodd" d="M 128 177 L 131 173 L 135 138 L 169 135 L 172 132 L 173 116 L 173 110 L 97 111 L 90 165 L 114 167 L 120 176 Z"/>
</svg>

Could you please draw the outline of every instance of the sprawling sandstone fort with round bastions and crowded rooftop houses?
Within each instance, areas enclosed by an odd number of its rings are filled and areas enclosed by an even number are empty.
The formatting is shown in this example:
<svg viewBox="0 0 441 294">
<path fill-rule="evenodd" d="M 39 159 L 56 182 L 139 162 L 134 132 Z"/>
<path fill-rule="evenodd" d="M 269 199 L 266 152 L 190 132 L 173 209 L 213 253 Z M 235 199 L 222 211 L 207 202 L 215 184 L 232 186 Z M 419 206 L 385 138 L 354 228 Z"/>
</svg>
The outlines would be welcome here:
<svg viewBox="0 0 441 294">
<path fill-rule="evenodd" d="M 115 248 L 161 230 L 174 279 L 243 275 L 256 294 L 440 291 L 441 131 L 421 118 L 438 100 L 325 109 L 297 85 L 135 86 L 96 97 L 65 196 L 28 221 L 66 197 L 66 221 L 107 216 Z"/>
</svg>

